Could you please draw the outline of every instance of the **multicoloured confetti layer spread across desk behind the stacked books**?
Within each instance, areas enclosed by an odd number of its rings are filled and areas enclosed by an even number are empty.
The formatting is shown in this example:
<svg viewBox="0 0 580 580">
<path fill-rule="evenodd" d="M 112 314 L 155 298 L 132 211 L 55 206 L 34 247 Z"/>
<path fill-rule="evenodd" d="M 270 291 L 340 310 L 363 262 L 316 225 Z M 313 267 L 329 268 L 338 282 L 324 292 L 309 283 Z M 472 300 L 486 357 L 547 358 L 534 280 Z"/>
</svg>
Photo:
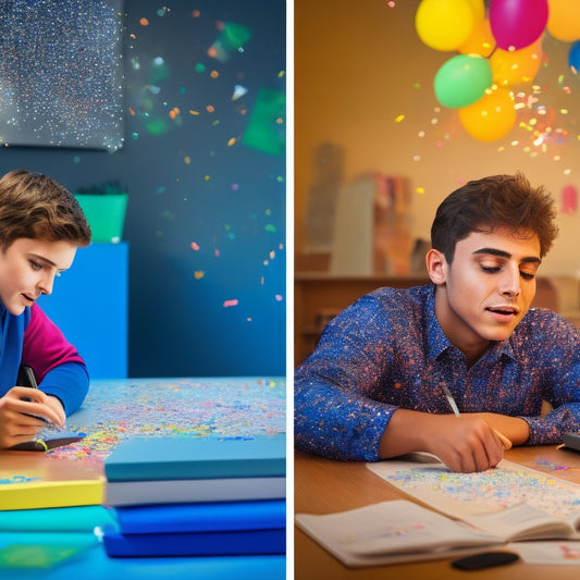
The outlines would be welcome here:
<svg viewBox="0 0 580 580">
<path fill-rule="evenodd" d="M 226 437 L 283 433 L 283 379 L 123 379 L 91 382 L 69 431 L 87 436 L 49 452 L 67 459 L 98 460 L 129 436 Z"/>
</svg>

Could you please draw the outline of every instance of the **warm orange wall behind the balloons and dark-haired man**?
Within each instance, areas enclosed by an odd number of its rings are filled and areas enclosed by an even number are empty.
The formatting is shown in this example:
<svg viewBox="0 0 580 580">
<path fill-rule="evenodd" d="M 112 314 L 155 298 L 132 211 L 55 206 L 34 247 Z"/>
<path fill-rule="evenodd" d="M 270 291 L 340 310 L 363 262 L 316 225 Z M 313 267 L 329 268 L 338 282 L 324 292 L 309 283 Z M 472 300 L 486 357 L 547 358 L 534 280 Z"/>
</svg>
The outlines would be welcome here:
<svg viewBox="0 0 580 580">
<path fill-rule="evenodd" d="M 580 76 L 567 66 L 570 45 L 545 33 L 547 62 L 535 83 L 540 103 L 566 128 L 565 144 L 533 145 L 519 126 L 482 143 L 462 128 L 456 111 L 433 92 L 437 69 L 457 52 L 423 45 L 415 29 L 418 0 L 295 0 L 295 247 L 304 248 L 307 195 L 316 174 L 314 150 L 332 143 L 345 150 L 344 181 L 369 171 L 405 175 L 412 189 L 412 231 L 429 238 L 436 206 L 459 184 L 495 173 L 523 171 L 545 184 L 556 199 L 575 185 L 580 190 Z M 562 79 L 559 77 L 563 77 Z M 563 87 L 570 87 L 567 94 Z M 530 92 L 529 87 L 523 89 Z M 560 109 L 568 109 L 568 114 Z M 404 115 L 403 121 L 396 119 Z M 541 118 L 538 118 L 541 120 Z M 422 188 L 424 193 L 418 193 Z M 580 214 L 560 214 L 560 237 L 542 267 L 544 275 L 578 275 Z"/>
</svg>

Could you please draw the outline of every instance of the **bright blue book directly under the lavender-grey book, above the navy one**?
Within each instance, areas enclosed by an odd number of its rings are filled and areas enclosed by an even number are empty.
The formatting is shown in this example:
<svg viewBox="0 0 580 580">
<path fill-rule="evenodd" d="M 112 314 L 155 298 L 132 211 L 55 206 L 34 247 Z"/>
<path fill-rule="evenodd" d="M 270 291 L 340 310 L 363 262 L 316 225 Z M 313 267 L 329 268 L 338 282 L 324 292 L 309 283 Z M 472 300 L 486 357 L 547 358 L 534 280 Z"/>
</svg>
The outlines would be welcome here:
<svg viewBox="0 0 580 580">
<path fill-rule="evenodd" d="M 220 502 L 118 507 L 122 533 L 272 530 L 286 525 L 286 502 Z"/>
</svg>

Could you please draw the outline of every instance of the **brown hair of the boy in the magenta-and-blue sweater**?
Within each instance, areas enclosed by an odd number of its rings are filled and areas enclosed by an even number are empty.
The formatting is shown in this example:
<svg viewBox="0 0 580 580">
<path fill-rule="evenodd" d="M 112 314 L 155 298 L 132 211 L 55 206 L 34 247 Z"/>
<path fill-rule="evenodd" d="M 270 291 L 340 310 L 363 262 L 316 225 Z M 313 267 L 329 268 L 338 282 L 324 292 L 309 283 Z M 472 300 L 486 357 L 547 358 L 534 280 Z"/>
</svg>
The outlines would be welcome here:
<svg viewBox="0 0 580 580">
<path fill-rule="evenodd" d="M 90 244 L 90 226 L 75 197 L 48 175 L 15 170 L 0 180 L 0 247 L 21 237 Z"/>
</svg>

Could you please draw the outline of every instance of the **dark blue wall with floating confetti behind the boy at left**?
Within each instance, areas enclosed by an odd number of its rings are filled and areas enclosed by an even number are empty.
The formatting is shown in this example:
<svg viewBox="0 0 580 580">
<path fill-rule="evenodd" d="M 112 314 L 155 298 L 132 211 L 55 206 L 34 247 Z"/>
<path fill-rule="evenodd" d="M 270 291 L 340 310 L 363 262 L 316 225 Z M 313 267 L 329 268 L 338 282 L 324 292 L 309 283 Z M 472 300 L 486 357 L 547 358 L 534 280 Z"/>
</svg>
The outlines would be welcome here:
<svg viewBox="0 0 580 580">
<path fill-rule="evenodd" d="M 2 173 L 127 187 L 131 377 L 284 373 L 285 10 L 126 0 L 123 148 L 0 149 Z M 231 23 L 249 38 L 212 58 Z M 236 85 L 247 92 L 234 100 Z M 260 114 L 266 134 L 251 139 Z"/>
</svg>

